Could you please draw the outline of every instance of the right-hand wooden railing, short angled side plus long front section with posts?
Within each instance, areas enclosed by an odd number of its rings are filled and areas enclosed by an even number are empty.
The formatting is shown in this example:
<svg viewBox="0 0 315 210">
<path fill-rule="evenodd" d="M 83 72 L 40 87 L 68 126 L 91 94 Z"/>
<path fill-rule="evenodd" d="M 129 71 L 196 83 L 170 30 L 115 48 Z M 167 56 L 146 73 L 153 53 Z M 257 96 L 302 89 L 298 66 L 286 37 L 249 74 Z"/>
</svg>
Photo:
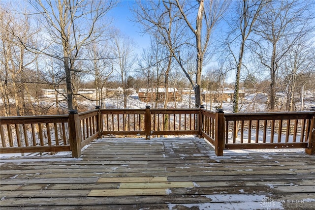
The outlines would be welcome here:
<svg viewBox="0 0 315 210">
<path fill-rule="evenodd" d="M 202 137 L 223 150 L 306 148 L 315 153 L 315 112 L 223 113 L 201 109 Z"/>
</svg>

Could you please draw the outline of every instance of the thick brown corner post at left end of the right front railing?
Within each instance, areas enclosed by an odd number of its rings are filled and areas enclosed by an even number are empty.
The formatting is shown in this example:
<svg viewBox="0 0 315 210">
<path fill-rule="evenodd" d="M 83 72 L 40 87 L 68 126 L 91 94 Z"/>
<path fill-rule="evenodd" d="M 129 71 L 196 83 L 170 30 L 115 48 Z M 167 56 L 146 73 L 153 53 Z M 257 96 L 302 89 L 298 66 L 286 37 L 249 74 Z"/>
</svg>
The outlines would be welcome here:
<svg viewBox="0 0 315 210">
<path fill-rule="evenodd" d="M 223 156 L 224 149 L 224 112 L 223 109 L 216 110 L 216 136 L 215 150 L 217 156 Z"/>
</svg>

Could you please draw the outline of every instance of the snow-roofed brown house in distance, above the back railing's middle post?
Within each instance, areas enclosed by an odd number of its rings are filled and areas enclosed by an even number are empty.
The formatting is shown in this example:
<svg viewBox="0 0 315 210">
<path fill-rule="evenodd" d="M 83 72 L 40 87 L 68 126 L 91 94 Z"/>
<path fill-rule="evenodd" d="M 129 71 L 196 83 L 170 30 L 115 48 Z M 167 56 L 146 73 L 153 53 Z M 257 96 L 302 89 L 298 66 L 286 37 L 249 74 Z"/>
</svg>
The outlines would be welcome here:
<svg viewBox="0 0 315 210">
<path fill-rule="evenodd" d="M 140 88 L 138 90 L 138 97 L 140 100 L 147 102 L 147 101 L 158 101 L 163 102 L 165 99 L 165 88 Z M 167 98 L 168 101 L 180 101 L 181 96 L 179 91 L 176 88 L 167 88 Z"/>
</svg>

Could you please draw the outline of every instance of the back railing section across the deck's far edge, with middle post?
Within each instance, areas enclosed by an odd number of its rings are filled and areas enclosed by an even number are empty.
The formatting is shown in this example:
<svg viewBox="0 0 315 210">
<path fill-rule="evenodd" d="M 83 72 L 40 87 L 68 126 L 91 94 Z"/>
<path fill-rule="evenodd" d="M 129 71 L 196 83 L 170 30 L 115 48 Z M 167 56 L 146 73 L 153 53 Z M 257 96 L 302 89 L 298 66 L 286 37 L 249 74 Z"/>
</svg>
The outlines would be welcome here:
<svg viewBox="0 0 315 210">
<path fill-rule="evenodd" d="M 102 109 L 101 135 L 189 135 L 199 134 L 199 109 Z"/>
</svg>

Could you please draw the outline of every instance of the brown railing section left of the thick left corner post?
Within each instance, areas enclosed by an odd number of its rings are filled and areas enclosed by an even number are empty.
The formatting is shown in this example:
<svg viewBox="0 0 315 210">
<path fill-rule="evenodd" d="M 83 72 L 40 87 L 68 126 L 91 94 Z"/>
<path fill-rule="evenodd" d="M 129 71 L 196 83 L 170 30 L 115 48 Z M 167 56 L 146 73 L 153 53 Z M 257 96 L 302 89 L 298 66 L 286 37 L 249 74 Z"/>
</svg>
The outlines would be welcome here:
<svg viewBox="0 0 315 210">
<path fill-rule="evenodd" d="M 69 151 L 68 116 L 1 117 L 1 153 Z"/>
</svg>

